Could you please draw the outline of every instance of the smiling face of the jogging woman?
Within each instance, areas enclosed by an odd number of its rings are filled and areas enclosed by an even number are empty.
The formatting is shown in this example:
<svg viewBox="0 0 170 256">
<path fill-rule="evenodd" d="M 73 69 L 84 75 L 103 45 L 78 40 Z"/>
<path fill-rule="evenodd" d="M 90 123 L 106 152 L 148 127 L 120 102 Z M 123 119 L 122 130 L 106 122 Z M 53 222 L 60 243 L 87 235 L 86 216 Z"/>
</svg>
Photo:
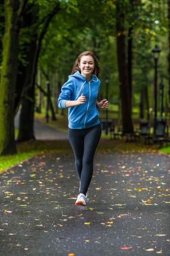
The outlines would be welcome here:
<svg viewBox="0 0 170 256">
<path fill-rule="evenodd" d="M 81 74 L 85 78 L 90 77 L 91 73 L 94 70 L 94 59 L 91 57 L 91 55 L 84 55 L 82 56 L 79 68 L 81 69 Z"/>
</svg>

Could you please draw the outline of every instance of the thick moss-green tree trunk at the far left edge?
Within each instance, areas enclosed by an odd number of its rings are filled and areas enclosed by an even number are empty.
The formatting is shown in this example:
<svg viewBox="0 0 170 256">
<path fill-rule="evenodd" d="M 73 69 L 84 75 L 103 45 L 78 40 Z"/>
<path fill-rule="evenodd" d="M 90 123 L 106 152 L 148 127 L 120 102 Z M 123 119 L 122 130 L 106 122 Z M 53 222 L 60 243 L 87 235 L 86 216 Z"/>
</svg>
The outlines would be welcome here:
<svg viewBox="0 0 170 256">
<path fill-rule="evenodd" d="M 14 92 L 17 76 L 19 1 L 5 0 L 5 32 L 3 37 L 3 66 L 0 79 L 0 155 L 16 154 L 14 140 Z"/>
</svg>

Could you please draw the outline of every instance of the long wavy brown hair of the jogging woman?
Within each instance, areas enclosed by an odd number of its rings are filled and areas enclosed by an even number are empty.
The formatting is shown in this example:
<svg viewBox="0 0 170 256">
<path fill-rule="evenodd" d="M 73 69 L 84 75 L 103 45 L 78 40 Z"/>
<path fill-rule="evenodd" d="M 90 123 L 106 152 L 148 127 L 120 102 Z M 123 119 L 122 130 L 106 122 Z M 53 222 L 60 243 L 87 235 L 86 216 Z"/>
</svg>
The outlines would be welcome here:
<svg viewBox="0 0 170 256">
<path fill-rule="evenodd" d="M 73 65 L 71 75 L 74 75 L 74 73 L 76 73 L 77 71 L 79 71 L 79 73 L 81 74 L 81 70 L 79 68 L 79 63 L 81 61 L 82 56 L 84 56 L 84 55 L 90 55 L 94 59 L 94 70 L 92 72 L 92 75 L 95 75 L 95 76 L 98 77 L 99 76 L 99 72 L 100 72 L 100 64 L 98 62 L 98 59 L 94 55 L 94 53 L 90 52 L 90 51 L 82 52 L 78 56 L 77 60 L 75 61 L 74 65 Z"/>
</svg>

